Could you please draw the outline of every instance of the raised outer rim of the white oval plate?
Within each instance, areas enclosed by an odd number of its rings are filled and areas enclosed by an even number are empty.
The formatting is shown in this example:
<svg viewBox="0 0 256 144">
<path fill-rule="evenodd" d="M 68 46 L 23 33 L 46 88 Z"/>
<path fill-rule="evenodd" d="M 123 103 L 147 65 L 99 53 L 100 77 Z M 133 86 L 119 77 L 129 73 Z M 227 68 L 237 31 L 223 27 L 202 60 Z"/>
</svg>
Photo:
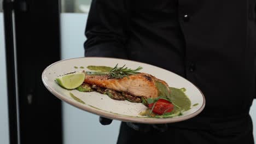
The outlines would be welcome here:
<svg viewBox="0 0 256 144">
<path fill-rule="evenodd" d="M 42 81 L 43 81 L 43 84 L 46 87 L 46 89 L 48 89 L 48 91 L 50 91 L 53 95 L 55 95 L 55 97 L 59 98 L 62 101 L 65 101 L 67 104 L 72 105 L 74 107 L 77 107 L 81 110 L 92 113 L 94 115 L 98 115 L 98 116 L 102 116 L 102 117 L 110 118 L 110 119 L 115 119 L 115 120 L 123 121 L 123 122 L 163 124 L 163 123 L 181 122 L 181 121 L 185 121 L 187 119 L 193 118 L 193 117 L 199 115 L 199 113 L 201 113 L 202 110 L 205 108 L 206 100 L 205 100 L 205 95 L 202 93 L 202 91 L 196 85 L 194 85 L 194 83 L 190 82 L 189 80 L 185 79 L 184 77 L 179 76 L 178 74 L 173 73 L 172 71 L 169 71 L 169 70 L 167 70 L 167 71 L 171 72 L 172 74 L 174 74 L 174 75 L 184 79 L 185 81 L 191 83 L 202 94 L 203 102 L 202 102 L 201 107 L 197 111 L 195 111 L 195 112 L 193 112 L 193 113 L 191 113 L 187 116 L 171 117 L 171 118 L 147 118 L 147 117 L 132 117 L 132 116 L 119 115 L 119 114 L 111 113 L 111 112 L 104 111 L 104 110 L 98 110 L 98 109 L 95 109 L 93 107 L 90 107 L 87 104 L 80 104 L 77 101 L 74 101 L 72 99 L 68 99 L 67 97 L 63 97 L 61 94 L 57 93 L 53 88 L 51 88 L 48 85 L 48 83 L 46 82 L 46 80 L 44 79 L 44 75 L 46 75 L 46 70 L 48 70 L 50 67 L 52 67 L 56 63 L 60 63 L 60 62 L 63 62 L 63 61 L 69 61 L 71 59 L 83 59 L 83 58 L 107 58 L 107 59 L 120 59 L 120 60 L 125 60 L 125 61 L 138 62 L 138 61 L 132 61 L 130 59 L 112 58 L 112 57 L 77 57 L 77 58 L 62 59 L 62 60 L 54 62 L 54 63 L 50 64 L 48 67 L 46 67 L 43 70 L 43 73 L 42 73 Z M 138 62 L 138 63 L 147 64 L 147 65 L 156 67 L 155 65 L 148 64 L 148 63 L 143 63 L 143 62 Z M 156 68 L 166 70 L 166 69 L 163 69 L 163 68 L 160 68 L 160 67 L 156 67 Z"/>
</svg>

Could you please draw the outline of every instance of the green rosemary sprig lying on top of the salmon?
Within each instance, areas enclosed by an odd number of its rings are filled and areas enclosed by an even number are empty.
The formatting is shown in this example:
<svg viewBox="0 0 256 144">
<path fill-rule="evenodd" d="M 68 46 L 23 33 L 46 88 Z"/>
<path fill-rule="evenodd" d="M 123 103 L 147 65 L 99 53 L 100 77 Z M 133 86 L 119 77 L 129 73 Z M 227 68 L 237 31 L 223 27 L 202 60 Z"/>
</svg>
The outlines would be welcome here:
<svg viewBox="0 0 256 144">
<path fill-rule="evenodd" d="M 132 70 L 125 67 L 125 65 L 123 67 L 118 67 L 118 64 L 117 64 L 112 70 L 109 71 L 109 74 L 110 74 L 110 78 L 122 79 L 123 77 L 127 77 L 129 75 L 138 74 L 139 73 L 138 71 L 141 69 L 142 67 L 138 67 L 137 69 Z"/>
</svg>

